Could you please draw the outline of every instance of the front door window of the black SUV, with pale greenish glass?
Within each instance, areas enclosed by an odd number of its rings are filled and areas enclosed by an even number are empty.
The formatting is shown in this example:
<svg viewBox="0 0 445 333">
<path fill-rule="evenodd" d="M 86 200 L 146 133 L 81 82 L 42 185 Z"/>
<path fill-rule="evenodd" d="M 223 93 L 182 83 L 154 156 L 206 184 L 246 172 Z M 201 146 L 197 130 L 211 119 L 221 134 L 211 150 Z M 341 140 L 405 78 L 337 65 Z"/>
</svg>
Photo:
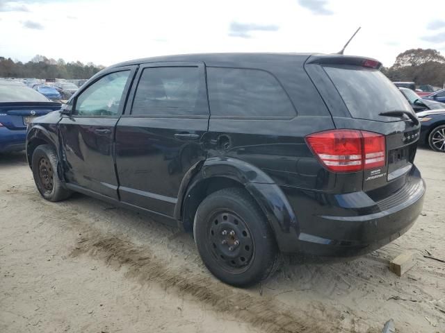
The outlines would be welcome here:
<svg viewBox="0 0 445 333">
<path fill-rule="evenodd" d="M 81 116 L 117 115 L 129 75 L 130 71 L 118 71 L 97 80 L 77 98 L 76 110 L 73 114 Z"/>
</svg>

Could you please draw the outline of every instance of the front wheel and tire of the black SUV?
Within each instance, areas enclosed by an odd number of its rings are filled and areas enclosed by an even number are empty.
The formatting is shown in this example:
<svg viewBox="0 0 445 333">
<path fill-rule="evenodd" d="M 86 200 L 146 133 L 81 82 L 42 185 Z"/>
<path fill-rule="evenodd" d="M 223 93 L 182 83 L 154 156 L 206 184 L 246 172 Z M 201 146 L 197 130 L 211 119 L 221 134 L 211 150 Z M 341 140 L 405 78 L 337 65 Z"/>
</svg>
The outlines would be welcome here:
<svg viewBox="0 0 445 333">
<path fill-rule="evenodd" d="M 55 202 L 71 196 L 72 191 L 66 189 L 58 177 L 58 158 L 54 148 L 49 144 L 35 148 L 31 164 L 35 186 L 43 198 Z"/>
</svg>

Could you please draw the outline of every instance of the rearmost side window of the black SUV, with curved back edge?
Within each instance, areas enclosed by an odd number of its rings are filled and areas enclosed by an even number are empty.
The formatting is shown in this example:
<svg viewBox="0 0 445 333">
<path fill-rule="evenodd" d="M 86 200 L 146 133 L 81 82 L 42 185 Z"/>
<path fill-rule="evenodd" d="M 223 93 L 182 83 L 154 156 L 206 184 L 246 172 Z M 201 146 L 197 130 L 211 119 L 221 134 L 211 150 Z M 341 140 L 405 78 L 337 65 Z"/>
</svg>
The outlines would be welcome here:
<svg viewBox="0 0 445 333">
<path fill-rule="evenodd" d="M 213 116 L 295 117 L 289 97 L 266 71 L 207 67 Z"/>
</svg>

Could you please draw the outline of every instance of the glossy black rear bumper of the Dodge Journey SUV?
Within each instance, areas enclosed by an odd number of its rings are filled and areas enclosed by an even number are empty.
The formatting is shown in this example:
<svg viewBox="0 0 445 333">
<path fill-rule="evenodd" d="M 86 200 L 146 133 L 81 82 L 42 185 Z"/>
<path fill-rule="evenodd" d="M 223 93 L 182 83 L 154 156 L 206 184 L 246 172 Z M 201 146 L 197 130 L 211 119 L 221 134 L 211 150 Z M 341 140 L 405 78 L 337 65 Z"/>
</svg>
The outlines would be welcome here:
<svg viewBox="0 0 445 333">
<path fill-rule="evenodd" d="M 343 201 L 339 198 L 330 200 L 323 195 L 318 195 L 318 198 L 313 196 L 315 200 L 323 200 L 321 214 L 318 214 L 317 207 L 309 205 L 309 200 L 305 200 L 305 208 L 291 203 L 298 224 L 293 237 L 291 232 L 277 239 L 278 244 L 284 253 L 323 257 L 351 257 L 369 253 L 394 241 L 411 228 L 421 213 L 425 190 L 425 182 L 413 167 L 402 189 L 380 202 L 368 197 L 373 203 L 369 207 L 363 207 L 361 198 L 350 200 L 347 208 L 339 207 Z M 366 194 L 357 192 L 357 196 Z M 296 203 L 295 196 L 291 196 L 290 200 Z M 357 202 L 357 206 L 350 205 L 351 202 Z M 312 214 L 301 214 L 302 209 Z"/>
</svg>

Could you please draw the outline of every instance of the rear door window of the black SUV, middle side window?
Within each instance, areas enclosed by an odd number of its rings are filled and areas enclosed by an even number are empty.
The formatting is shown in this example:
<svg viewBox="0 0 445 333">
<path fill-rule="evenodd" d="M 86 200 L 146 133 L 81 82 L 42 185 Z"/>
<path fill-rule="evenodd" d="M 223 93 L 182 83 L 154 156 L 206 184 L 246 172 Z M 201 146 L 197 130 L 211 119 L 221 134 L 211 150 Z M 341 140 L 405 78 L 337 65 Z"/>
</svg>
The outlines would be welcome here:
<svg viewBox="0 0 445 333">
<path fill-rule="evenodd" d="M 207 114 L 204 76 L 198 67 L 148 67 L 140 76 L 131 114 Z"/>
</svg>

